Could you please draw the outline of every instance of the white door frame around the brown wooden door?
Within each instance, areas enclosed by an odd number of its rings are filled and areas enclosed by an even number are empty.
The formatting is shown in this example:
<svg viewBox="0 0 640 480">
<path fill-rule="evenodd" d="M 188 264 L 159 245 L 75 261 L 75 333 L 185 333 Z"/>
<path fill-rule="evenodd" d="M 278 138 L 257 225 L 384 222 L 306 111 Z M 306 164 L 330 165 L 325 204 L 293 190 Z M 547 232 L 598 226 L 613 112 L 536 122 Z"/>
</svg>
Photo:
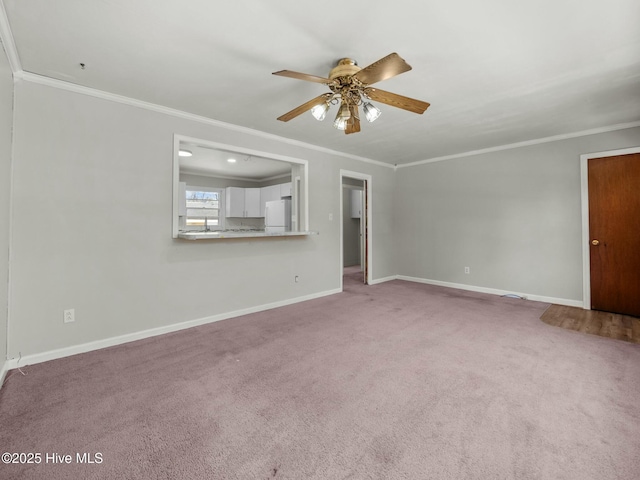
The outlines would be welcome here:
<svg viewBox="0 0 640 480">
<path fill-rule="evenodd" d="M 591 257 L 589 249 L 589 160 L 640 153 L 640 147 L 580 155 L 580 197 L 582 203 L 582 308 L 591 310 Z"/>
</svg>

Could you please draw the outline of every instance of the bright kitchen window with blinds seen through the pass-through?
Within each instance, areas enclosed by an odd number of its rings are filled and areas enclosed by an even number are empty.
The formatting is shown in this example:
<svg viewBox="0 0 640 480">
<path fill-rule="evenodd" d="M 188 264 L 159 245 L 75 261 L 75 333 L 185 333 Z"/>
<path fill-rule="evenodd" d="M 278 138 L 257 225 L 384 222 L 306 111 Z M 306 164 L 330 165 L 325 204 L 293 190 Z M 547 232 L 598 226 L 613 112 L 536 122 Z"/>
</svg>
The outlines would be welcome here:
<svg viewBox="0 0 640 480">
<path fill-rule="evenodd" d="M 187 185 L 187 230 L 222 230 L 224 190 Z"/>
</svg>

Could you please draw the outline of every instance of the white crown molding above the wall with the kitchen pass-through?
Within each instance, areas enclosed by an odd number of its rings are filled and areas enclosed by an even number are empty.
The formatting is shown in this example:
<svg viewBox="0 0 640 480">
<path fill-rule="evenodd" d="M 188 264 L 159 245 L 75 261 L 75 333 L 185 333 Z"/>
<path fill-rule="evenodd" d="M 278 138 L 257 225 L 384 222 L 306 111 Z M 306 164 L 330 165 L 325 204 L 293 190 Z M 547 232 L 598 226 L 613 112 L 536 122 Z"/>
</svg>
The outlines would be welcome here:
<svg viewBox="0 0 640 480">
<path fill-rule="evenodd" d="M 40 85 L 46 85 L 49 87 L 59 88 L 61 90 L 67 90 L 69 92 L 80 93 L 82 95 L 88 95 L 91 97 L 101 98 L 103 100 L 110 100 L 116 103 L 122 103 L 125 105 L 130 105 L 133 107 L 144 108 L 145 110 L 150 110 L 153 112 L 163 113 L 165 115 L 170 115 L 173 117 L 182 118 L 185 120 L 190 120 L 193 122 L 204 123 L 206 125 L 212 125 L 215 127 L 224 128 L 226 130 L 232 130 L 236 132 L 245 133 L 247 135 L 252 135 L 254 137 L 261 137 L 268 140 L 275 140 L 281 143 L 287 143 L 289 145 L 294 145 L 297 147 L 307 148 L 309 150 L 315 150 L 317 152 L 328 153 L 330 155 L 336 155 L 338 157 L 349 158 L 351 160 L 358 160 L 360 162 L 371 163 L 374 165 L 378 165 L 381 167 L 387 167 L 393 169 L 394 166 L 380 162 L 378 160 L 372 160 L 370 158 L 360 157 L 358 155 L 352 155 L 350 153 L 339 152 L 337 150 L 331 150 L 330 148 L 321 147 L 319 145 L 313 145 L 311 143 L 301 142 L 299 140 L 294 140 L 292 138 L 281 137 L 279 135 L 274 135 L 273 133 L 262 132 L 260 130 L 255 130 L 253 128 L 242 127 L 240 125 L 234 125 L 232 123 L 222 122 L 220 120 L 214 120 L 212 118 L 203 117 L 201 115 L 195 115 L 193 113 L 184 112 L 182 110 L 177 110 L 175 108 L 165 107 L 163 105 L 158 105 L 155 103 L 144 102 L 142 100 L 138 100 L 131 97 L 125 97 L 123 95 L 117 95 L 115 93 L 104 92 L 102 90 L 98 90 L 95 88 L 84 87 L 82 85 L 77 85 L 75 83 L 65 82 L 63 80 L 58 80 L 55 78 L 45 77 L 42 75 L 36 75 L 30 72 L 20 71 L 15 74 L 15 77 L 20 80 L 25 80 L 31 83 L 37 83 Z"/>
</svg>

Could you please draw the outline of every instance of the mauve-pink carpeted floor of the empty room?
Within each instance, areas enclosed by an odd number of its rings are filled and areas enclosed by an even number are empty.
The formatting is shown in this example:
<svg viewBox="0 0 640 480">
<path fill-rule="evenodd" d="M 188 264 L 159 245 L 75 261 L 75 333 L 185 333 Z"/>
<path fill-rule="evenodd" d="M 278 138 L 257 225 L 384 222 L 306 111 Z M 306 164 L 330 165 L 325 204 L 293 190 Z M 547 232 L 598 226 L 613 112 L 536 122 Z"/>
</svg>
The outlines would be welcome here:
<svg viewBox="0 0 640 480">
<path fill-rule="evenodd" d="M 0 450 L 42 463 L 0 478 L 640 478 L 639 345 L 542 303 L 344 288 L 10 372 Z"/>
</svg>

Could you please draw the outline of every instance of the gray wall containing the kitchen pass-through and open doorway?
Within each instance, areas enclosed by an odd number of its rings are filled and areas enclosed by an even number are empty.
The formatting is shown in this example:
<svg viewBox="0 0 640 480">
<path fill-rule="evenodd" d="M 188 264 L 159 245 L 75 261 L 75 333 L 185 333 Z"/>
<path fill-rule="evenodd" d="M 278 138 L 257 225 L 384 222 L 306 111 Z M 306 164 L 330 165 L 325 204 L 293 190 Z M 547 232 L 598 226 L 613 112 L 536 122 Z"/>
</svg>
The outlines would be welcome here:
<svg viewBox="0 0 640 480">
<path fill-rule="evenodd" d="M 27 81 L 15 94 L 12 358 L 339 288 L 340 169 L 372 175 L 373 275 L 395 274 L 391 168 Z M 320 234 L 172 239 L 176 133 L 308 160 Z"/>
</svg>

